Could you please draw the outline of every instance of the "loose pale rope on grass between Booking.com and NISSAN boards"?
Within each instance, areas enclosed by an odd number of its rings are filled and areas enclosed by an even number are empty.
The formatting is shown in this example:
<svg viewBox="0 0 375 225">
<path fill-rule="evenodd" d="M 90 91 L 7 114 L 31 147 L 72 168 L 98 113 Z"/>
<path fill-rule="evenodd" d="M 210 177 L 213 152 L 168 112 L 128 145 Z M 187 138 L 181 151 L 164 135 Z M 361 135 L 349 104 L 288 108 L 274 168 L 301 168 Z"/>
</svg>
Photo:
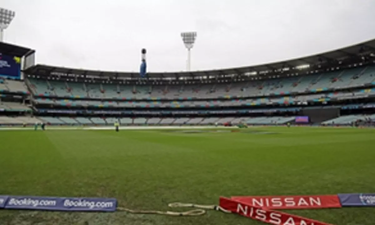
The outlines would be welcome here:
<svg viewBox="0 0 375 225">
<path fill-rule="evenodd" d="M 231 211 L 225 210 L 219 205 L 199 205 L 199 204 L 192 204 L 192 203 L 173 202 L 173 203 L 169 203 L 168 207 L 195 208 L 195 209 L 189 210 L 189 211 L 183 211 L 183 212 L 176 212 L 176 211 L 158 211 L 158 210 L 133 210 L 133 209 L 124 208 L 124 207 L 117 207 L 117 210 L 126 211 L 128 213 L 134 213 L 134 214 L 159 214 L 159 215 L 166 215 L 166 216 L 201 216 L 205 214 L 207 210 L 216 210 L 216 211 L 222 211 L 224 213 L 231 213 Z"/>
</svg>

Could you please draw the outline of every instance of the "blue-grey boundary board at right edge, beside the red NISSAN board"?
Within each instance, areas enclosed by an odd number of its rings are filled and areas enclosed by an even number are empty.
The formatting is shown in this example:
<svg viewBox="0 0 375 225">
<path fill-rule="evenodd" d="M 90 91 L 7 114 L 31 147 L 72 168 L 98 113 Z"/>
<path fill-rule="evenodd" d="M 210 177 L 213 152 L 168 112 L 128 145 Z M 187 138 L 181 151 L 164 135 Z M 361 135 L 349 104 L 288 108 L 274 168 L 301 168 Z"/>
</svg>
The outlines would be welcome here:
<svg viewBox="0 0 375 225">
<path fill-rule="evenodd" d="M 341 205 L 375 207 L 375 193 L 338 194 Z"/>
</svg>

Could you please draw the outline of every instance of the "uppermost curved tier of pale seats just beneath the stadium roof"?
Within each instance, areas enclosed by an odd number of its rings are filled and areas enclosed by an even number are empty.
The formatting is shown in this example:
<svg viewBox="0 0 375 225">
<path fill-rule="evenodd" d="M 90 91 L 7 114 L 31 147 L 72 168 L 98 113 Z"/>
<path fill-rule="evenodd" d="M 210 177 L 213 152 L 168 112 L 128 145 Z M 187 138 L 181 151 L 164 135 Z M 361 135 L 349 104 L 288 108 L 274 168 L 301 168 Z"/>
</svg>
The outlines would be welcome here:
<svg viewBox="0 0 375 225">
<path fill-rule="evenodd" d="M 87 84 L 29 79 L 35 94 L 89 96 L 92 98 L 215 98 L 217 96 L 255 96 L 270 93 L 305 92 L 362 86 L 375 81 L 375 66 L 346 69 L 324 74 L 301 75 L 246 83 L 140 86 Z M 2 85 L 0 84 L 0 89 Z"/>
</svg>

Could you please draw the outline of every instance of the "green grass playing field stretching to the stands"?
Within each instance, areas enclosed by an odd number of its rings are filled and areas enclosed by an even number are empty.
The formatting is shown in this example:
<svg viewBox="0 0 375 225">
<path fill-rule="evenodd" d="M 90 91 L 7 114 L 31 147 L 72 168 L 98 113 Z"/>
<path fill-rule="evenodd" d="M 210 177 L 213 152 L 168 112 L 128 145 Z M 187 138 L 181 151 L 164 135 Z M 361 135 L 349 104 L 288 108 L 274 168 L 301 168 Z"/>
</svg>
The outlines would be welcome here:
<svg viewBox="0 0 375 225">
<path fill-rule="evenodd" d="M 0 195 L 117 198 L 134 209 L 219 196 L 375 192 L 375 130 L 251 127 L 0 131 Z M 267 133 L 269 132 L 269 133 Z M 177 209 L 184 210 L 184 209 Z M 336 225 L 374 225 L 375 208 L 293 210 Z M 198 217 L 1 210 L 0 224 L 263 224 L 208 211 Z"/>
</svg>

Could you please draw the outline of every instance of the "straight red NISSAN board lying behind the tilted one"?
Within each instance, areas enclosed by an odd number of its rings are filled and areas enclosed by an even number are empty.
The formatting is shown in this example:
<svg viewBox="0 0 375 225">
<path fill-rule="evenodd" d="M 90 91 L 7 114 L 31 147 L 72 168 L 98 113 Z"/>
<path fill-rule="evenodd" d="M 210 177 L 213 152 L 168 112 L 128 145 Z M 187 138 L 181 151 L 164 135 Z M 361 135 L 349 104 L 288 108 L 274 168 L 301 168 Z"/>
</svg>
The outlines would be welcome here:
<svg viewBox="0 0 375 225">
<path fill-rule="evenodd" d="M 268 209 L 341 208 L 337 195 L 232 196 L 231 199 Z"/>
</svg>

